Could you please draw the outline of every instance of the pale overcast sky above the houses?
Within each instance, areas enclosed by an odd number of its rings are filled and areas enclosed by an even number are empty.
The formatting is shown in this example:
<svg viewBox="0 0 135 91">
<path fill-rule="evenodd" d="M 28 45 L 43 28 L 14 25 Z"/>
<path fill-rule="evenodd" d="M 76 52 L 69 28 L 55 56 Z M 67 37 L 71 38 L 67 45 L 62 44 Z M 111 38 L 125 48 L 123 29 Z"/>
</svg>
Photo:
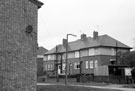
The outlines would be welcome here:
<svg viewBox="0 0 135 91">
<path fill-rule="evenodd" d="M 107 34 L 122 43 L 135 46 L 135 0 L 39 0 L 38 44 L 50 50 L 67 34 L 69 42 L 85 33 Z"/>
</svg>

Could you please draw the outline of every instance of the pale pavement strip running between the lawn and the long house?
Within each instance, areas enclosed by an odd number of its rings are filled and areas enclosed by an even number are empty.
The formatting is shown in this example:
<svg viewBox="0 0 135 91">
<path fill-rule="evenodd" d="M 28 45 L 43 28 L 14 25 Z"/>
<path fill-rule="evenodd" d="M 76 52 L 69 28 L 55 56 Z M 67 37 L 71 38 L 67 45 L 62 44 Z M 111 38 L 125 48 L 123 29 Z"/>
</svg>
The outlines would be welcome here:
<svg viewBox="0 0 135 91">
<path fill-rule="evenodd" d="M 37 83 L 37 85 L 65 85 L 63 83 Z M 91 83 L 91 84 L 75 84 L 70 83 L 68 86 L 90 87 L 99 89 L 113 89 L 121 91 L 135 91 L 135 88 L 127 88 L 125 84 L 105 84 L 105 83 Z"/>
</svg>

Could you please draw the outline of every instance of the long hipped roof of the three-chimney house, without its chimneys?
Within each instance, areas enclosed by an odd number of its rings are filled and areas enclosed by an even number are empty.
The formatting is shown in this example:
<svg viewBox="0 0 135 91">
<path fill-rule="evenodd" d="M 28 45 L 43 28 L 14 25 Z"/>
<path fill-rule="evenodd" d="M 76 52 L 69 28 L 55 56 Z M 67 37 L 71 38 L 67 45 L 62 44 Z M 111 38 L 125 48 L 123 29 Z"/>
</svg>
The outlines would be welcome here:
<svg viewBox="0 0 135 91">
<path fill-rule="evenodd" d="M 87 37 L 86 40 L 78 39 L 73 42 L 68 43 L 68 51 L 75 51 L 85 48 L 92 48 L 92 47 L 118 47 L 118 48 L 126 48 L 132 49 L 131 47 L 121 43 L 120 41 L 108 36 L 108 35 L 101 35 L 98 36 L 97 39 L 93 39 L 92 37 Z M 58 45 L 57 52 L 65 52 L 66 48 L 63 45 Z M 53 54 L 56 53 L 56 47 L 51 49 L 50 51 L 46 52 L 45 54 Z"/>
</svg>

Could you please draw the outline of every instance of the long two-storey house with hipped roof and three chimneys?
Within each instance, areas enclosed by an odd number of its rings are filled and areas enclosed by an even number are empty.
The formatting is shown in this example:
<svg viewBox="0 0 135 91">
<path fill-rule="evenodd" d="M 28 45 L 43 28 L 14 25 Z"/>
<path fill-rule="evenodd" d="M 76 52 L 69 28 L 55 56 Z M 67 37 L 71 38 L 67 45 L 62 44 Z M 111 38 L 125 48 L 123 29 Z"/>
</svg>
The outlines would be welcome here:
<svg viewBox="0 0 135 91">
<path fill-rule="evenodd" d="M 82 34 L 81 38 L 68 43 L 67 73 L 108 75 L 108 66 L 116 65 L 117 52 L 130 51 L 131 47 L 110 37 L 98 35 L 93 37 Z M 65 39 L 60 44 L 44 54 L 44 71 L 56 70 L 65 74 L 66 59 Z M 104 70 L 104 71 L 102 71 Z"/>
</svg>

